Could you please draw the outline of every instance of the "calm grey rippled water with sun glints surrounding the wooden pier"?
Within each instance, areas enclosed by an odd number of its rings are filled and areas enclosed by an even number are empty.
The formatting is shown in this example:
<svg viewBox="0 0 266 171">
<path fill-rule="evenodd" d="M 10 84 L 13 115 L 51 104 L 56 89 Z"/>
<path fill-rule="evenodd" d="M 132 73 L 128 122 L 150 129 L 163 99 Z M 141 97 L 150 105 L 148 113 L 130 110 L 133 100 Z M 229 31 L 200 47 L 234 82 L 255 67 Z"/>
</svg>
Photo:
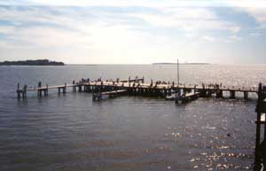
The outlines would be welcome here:
<svg viewBox="0 0 266 171">
<path fill-rule="evenodd" d="M 181 66 L 181 82 L 257 86 L 266 66 Z M 0 170 L 250 170 L 255 100 L 200 98 L 186 105 L 160 98 L 91 94 L 16 99 L 16 84 L 81 78 L 176 81 L 176 66 L 0 66 Z M 241 96 L 241 95 L 239 95 Z M 255 97 L 255 96 L 254 96 Z"/>
</svg>

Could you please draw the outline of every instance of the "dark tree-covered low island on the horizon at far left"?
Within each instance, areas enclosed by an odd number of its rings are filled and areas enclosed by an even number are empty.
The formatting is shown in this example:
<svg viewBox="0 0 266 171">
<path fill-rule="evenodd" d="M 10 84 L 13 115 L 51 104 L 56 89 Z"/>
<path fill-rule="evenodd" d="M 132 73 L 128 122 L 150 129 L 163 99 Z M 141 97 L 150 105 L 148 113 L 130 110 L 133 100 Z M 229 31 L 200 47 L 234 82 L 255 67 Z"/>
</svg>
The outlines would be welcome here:
<svg viewBox="0 0 266 171">
<path fill-rule="evenodd" d="M 63 62 L 50 61 L 48 59 L 19 60 L 0 62 L 0 66 L 65 66 Z"/>
</svg>

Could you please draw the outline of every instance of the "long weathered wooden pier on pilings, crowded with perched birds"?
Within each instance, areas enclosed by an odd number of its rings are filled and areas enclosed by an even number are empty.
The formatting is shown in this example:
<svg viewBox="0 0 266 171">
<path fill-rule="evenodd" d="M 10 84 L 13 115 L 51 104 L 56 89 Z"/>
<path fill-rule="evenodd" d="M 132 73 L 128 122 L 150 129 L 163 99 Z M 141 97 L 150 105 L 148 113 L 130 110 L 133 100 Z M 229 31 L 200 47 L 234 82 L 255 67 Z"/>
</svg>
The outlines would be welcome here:
<svg viewBox="0 0 266 171">
<path fill-rule="evenodd" d="M 27 88 L 27 85 L 20 88 L 18 84 L 17 97 L 26 98 L 27 92 L 36 92 L 37 97 L 47 97 L 50 89 L 58 89 L 58 93 L 65 94 L 67 89 L 72 89 L 74 92 L 77 90 L 79 92 L 92 93 L 92 99 L 99 101 L 103 97 L 117 97 L 120 95 L 128 96 L 144 96 L 144 97 L 168 97 L 172 95 L 173 92 L 178 92 L 178 96 L 172 99 L 176 103 L 181 101 L 182 103 L 187 103 L 198 97 L 216 97 L 223 98 L 225 92 L 229 94 L 231 99 L 236 98 L 236 93 L 241 93 L 243 99 L 248 99 L 249 93 L 258 93 L 258 89 L 246 88 L 246 87 L 225 87 L 222 84 L 181 84 L 175 82 L 145 82 L 145 78 L 120 80 L 117 78 L 115 81 L 101 79 L 91 81 L 90 79 L 82 79 L 79 82 L 64 83 L 61 85 L 48 85 L 42 86 L 42 82 L 38 82 L 37 87 Z M 182 94 L 180 94 L 182 92 Z"/>
</svg>

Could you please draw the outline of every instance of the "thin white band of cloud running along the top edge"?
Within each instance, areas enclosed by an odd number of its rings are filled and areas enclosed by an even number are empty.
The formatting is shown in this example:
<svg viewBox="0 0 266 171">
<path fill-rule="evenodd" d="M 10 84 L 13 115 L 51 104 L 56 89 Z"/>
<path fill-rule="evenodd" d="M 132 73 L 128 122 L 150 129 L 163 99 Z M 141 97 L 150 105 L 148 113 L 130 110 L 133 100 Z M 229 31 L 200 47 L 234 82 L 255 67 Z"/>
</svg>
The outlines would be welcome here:
<svg viewBox="0 0 266 171">
<path fill-rule="evenodd" d="M 255 3 L 254 3 L 255 2 Z M 263 0 L 0 0 L 0 4 L 64 5 L 64 6 L 142 6 L 142 7 L 266 7 Z"/>
</svg>

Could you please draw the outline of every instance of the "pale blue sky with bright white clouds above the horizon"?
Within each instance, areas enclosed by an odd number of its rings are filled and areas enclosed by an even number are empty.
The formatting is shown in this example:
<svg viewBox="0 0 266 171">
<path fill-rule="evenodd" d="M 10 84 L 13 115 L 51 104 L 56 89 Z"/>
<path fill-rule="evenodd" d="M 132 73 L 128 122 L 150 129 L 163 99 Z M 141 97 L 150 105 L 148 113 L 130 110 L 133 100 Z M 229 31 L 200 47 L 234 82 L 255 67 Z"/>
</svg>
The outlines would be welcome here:
<svg viewBox="0 0 266 171">
<path fill-rule="evenodd" d="M 0 61 L 266 63 L 266 0 L 0 0 Z"/>
</svg>

